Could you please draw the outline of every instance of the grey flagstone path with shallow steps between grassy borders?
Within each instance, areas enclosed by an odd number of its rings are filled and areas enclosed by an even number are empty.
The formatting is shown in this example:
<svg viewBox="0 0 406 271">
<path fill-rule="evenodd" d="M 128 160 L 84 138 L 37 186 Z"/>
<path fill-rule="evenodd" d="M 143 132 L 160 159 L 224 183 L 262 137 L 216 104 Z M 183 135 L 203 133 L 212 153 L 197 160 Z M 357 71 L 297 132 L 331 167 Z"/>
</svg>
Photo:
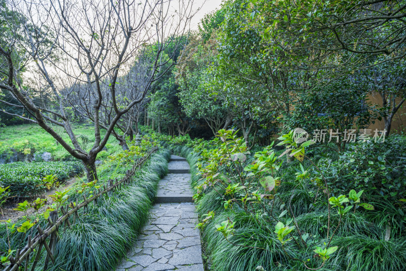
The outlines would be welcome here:
<svg viewBox="0 0 406 271">
<path fill-rule="evenodd" d="M 204 271 L 199 230 L 195 229 L 197 214 L 188 202 L 192 196 L 189 165 L 184 158 L 171 156 L 168 168 L 149 223 L 116 271 Z"/>
</svg>

